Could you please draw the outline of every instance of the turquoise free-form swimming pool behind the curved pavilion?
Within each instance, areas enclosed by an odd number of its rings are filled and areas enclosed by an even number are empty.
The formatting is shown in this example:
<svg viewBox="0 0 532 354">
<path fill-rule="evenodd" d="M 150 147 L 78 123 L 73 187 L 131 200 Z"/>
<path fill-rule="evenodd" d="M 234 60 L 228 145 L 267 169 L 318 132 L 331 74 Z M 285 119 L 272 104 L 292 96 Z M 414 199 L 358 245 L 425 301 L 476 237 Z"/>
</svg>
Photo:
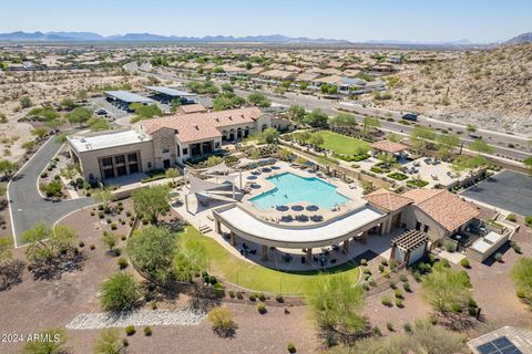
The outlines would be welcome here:
<svg viewBox="0 0 532 354">
<path fill-rule="evenodd" d="M 275 188 L 249 199 L 260 209 L 285 206 L 293 202 L 309 202 L 321 208 L 330 209 L 350 199 L 336 191 L 335 185 L 316 177 L 300 177 L 291 173 L 284 173 L 267 178 Z"/>
</svg>

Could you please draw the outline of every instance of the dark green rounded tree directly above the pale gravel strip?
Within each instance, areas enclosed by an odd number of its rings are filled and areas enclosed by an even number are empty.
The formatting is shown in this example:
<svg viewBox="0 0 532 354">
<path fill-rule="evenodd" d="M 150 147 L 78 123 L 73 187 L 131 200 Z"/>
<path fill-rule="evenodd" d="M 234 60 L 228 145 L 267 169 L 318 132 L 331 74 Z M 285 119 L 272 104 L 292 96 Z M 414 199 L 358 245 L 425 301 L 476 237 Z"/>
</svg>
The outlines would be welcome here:
<svg viewBox="0 0 532 354">
<path fill-rule="evenodd" d="M 100 304 L 104 311 L 132 309 L 141 299 L 139 284 L 129 273 L 116 273 L 100 285 Z"/>
</svg>

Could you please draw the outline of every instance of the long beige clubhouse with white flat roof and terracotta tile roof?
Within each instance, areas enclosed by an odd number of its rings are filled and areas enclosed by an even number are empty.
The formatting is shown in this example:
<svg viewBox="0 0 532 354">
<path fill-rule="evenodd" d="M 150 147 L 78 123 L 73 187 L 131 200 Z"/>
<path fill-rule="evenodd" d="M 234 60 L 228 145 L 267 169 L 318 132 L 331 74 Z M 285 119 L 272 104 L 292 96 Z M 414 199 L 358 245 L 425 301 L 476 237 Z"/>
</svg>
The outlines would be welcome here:
<svg viewBox="0 0 532 354">
<path fill-rule="evenodd" d="M 287 122 L 258 107 L 218 112 L 178 112 L 141 121 L 131 128 L 88 133 L 68 138 L 73 162 L 88 181 L 170 168 L 188 158 L 221 150 L 266 128 Z"/>
</svg>

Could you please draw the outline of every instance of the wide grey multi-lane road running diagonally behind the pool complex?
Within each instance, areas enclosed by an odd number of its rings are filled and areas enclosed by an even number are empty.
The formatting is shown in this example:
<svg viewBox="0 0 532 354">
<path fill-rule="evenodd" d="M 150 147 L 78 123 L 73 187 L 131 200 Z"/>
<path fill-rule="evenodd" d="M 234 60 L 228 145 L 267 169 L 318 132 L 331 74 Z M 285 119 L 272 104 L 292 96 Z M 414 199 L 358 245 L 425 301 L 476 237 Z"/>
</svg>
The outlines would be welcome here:
<svg viewBox="0 0 532 354">
<path fill-rule="evenodd" d="M 125 64 L 124 69 L 130 72 L 137 72 L 141 75 L 155 76 L 160 80 L 171 80 L 180 83 L 186 83 L 187 81 L 190 81 L 183 77 L 178 77 L 177 75 L 167 71 L 156 72 L 156 73 L 143 72 L 139 70 L 139 67 L 136 66 L 136 63 Z M 214 81 L 217 82 L 218 84 L 226 82 L 219 79 L 214 79 Z M 243 96 L 247 96 L 252 92 L 253 91 L 235 88 L 235 93 Z M 284 96 L 275 95 L 268 92 L 263 92 L 263 93 L 266 96 L 268 96 L 268 98 L 272 102 L 276 104 L 286 105 L 286 106 L 297 104 L 305 107 L 306 110 L 320 108 L 328 115 L 338 114 L 339 108 L 349 110 L 349 111 L 352 111 L 351 114 L 355 115 L 360 122 L 364 118 L 364 115 L 389 117 L 391 114 L 391 117 L 395 121 L 388 122 L 388 121 L 381 119 L 380 121 L 381 129 L 396 132 L 405 135 L 409 135 L 410 132 L 413 129 L 413 125 L 403 125 L 399 123 L 402 115 L 400 112 L 392 112 L 392 111 L 372 108 L 372 107 L 365 108 L 361 105 L 350 104 L 347 102 L 337 102 L 337 101 L 331 101 L 326 98 L 319 98 L 313 95 L 303 95 L 297 93 L 286 93 Z M 458 132 L 462 132 L 461 134 L 459 133 L 458 136 L 460 137 L 461 142 L 463 142 L 464 146 L 467 146 L 469 143 L 474 140 L 473 138 L 468 136 L 468 132 L 464 125 L 459 125 L 456 123 L 449 123 L 443 121 L 437 121 L 437 119 L 424 117 L 424 116 L 418 117 L 418 124 L 428 125 L 439 129 L 447 129 L 448 132 L 454 133 L 454 134 L 457 134 Z M 477 134 L 482 136 L 482 139 L 485 143 L 490 144 L 495 148 L 495 155 L 489 155 L 495 159 L 498 157 L 502 157 L 503 159 L 507 159 L 507 162 L 508 159 L 514 160 L 514 162 L 522 162 L 526 157 L 531 156 L 531 148 L 528 146 L 529 137 L 499 133 L 493 131 L 485 131 L 485 129 L 478 129 Z M 509 147 L 509 144 L 514 145 L 515 148 Z M 521 164 L 516 164 L 516 165 L 521 165 Z"/>
</svg>

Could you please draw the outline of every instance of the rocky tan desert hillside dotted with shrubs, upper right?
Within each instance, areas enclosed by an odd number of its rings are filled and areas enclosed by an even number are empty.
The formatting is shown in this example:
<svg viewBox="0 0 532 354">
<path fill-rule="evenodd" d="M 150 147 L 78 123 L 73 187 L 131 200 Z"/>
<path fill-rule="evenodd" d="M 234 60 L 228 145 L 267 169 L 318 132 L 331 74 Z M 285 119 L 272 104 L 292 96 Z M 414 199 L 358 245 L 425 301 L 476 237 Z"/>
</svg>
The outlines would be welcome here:
<svg viewBox="0 0 532 354">
<path fill-rule="evenodd" d="M 407 64 L 377 105 L 456 123 L 532 133 L 532 44 L 466 52 L 452 60 Z"/>
</svg>

